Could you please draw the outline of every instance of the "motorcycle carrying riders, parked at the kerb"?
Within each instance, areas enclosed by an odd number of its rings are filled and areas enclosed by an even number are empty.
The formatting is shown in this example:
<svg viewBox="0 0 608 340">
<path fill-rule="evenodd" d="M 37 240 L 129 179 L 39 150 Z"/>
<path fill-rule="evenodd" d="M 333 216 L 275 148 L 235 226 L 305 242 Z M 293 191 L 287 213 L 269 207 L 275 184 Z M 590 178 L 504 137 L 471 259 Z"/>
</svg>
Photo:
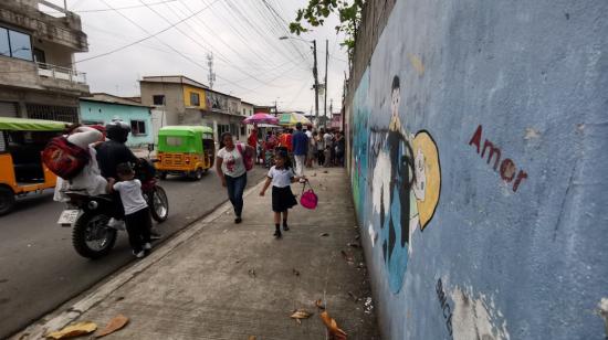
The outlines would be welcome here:
<svg viewBox="0 0 608 340">
<path fill-rule="evenodd" d="M 169 216 L 169 200 L 163 187 L 158 185 L 149 163 L 136 164 L 136 177 L 141 181 L 141 194 L 148 203 L 151 217 L 161 223 Z M 99 258 L 107 255 L 114 244 L 118 227 L 108 225 L 111 219 L 120 219 L 115 194 L 90 196 L 78 191 L 66 191 L 69 208 L 64 210 L 57 224 L 72 226 L 72 245 L 83 257 Z"/>
</svg>

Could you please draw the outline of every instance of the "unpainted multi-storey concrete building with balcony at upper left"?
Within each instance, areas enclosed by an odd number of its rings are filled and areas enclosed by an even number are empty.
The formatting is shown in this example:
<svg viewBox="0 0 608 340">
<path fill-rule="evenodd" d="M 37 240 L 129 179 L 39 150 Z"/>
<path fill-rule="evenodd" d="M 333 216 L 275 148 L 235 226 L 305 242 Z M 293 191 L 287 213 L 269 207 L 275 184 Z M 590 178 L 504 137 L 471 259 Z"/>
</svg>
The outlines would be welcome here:
<svg viewBox="0 0 608 340">
<path fill-rule="evenodd" d="M 1 1 L 0 116 L 78 121 L 88 86 L 73 63 L 87 51 L 78 15 L 43 0 Z"/>
</svg>

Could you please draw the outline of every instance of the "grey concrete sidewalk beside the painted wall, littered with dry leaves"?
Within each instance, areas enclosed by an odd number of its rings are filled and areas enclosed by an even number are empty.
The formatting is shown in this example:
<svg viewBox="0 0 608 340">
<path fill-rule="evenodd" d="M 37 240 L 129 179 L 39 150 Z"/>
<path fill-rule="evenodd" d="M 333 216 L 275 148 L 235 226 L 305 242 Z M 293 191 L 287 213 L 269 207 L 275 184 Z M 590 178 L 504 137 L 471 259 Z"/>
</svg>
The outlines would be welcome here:
<svg viewBox="0 0 608 340">
<path fill-rule="evenodd" d="M 107 339 L 326 339 L 317 299 L 348 339 L 379 339 L 363 251 L 348 245 L 358 244 L 359 231 L 346 172 L 307 174 L 319 206 L 291 210 L 283 238 L 272 236 L 270 194 L 258 195 L 260 183 L 245 193 L 242 224 L 222 205 L 14 339 L 75 321 L 103 328 L 119 314 L 129 323 Z M 301 188 L 292 185 L 297 194 Z M 298 325 L 290 318 L 295 309 L 314 315 Z"/>
</svg>

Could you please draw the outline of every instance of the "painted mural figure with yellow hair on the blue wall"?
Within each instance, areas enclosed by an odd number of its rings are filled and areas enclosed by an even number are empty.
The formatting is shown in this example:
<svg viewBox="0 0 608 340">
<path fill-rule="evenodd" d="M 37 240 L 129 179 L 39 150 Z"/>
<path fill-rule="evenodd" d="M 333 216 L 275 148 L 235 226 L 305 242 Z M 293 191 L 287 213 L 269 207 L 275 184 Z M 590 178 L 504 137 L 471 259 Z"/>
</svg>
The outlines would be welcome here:
<svg viewBox="0 0 608 340">
<path fill-rule="evenodd" d="M 395 76 L 388 129 L 373 128 L 369 136 L 369 158 L 374 163 L 371 209 L 379 217 L 380 230 L 376 233 L 368 229 L 368 233 L 379 238 L 388 284 L 395 294 L 402 286 L 413 232 L 417 227 L 422 230 L 432 217 L 440 183 L 434 141 L 427 131 L 416 136 L 406 131 L 399 117 L 399 77 Z"/>
</svg>

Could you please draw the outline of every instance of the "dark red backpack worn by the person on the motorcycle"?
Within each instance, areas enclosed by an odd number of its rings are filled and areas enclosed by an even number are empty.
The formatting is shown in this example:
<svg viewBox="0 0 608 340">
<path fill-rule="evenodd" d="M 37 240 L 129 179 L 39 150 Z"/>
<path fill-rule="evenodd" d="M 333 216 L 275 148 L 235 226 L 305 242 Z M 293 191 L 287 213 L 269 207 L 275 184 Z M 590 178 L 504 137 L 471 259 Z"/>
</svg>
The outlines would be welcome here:
<svg viewBox="0 0 608 340">
<path fill-rule="evenodd" d="M 76 177 L 90 160 L 88 150 L 70 142 L 64 136 L 51 139 L 42 150 L 42 162 L 64 180 Z"/>
</svg>

